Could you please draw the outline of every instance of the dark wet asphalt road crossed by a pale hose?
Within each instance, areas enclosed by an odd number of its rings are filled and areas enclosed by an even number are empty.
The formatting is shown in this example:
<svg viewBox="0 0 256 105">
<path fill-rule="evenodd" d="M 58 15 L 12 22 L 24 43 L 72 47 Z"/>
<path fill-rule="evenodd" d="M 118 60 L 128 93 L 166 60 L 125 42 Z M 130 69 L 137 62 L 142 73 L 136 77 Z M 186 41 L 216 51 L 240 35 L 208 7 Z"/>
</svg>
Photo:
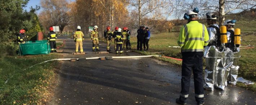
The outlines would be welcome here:
<svg viewBox="0 0 256 105">
<path fill-rule="evenodd" d="M 63 38 L 64 37 L 58 37 Z M 92 41 L 85 40 L 84 51 L 92 52 Z M 75 42 L 67 39 L 64 58 L 96 56 L 134 56 L 110 54 L 72 55 Z M 101 51 L 106 44 L 100 42 Z M 63 61 L 58 84 L 50 105 L 176 105 L 181 91 L 181 68 L 154 58 Z M 231 86 L 224 91 L 205 90 L 205 105 L 255 105 L 256 95 L 245 88 Z M 187 105 L 196 105 L 194 82 L 191 78 Z"/>
</svg>

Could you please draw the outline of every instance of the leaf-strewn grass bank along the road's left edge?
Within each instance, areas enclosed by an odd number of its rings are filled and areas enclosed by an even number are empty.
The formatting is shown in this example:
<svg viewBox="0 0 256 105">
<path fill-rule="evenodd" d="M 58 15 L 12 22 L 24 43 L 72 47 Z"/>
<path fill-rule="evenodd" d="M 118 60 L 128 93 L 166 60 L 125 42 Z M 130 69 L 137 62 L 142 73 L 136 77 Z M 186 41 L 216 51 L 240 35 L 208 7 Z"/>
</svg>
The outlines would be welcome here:
<svg viewBox="0 0 256 105">
<path fill-rule="evenodd" d="M 50 98 L 52 82 L 60 65 L 58 54 L 6 56 L 0 59 L 0 104 L 44 104 Z M 26 70 L 25 70 L 26 69 Z M 54 86 L 54 85 L 53 85 Z"/>
</svg>

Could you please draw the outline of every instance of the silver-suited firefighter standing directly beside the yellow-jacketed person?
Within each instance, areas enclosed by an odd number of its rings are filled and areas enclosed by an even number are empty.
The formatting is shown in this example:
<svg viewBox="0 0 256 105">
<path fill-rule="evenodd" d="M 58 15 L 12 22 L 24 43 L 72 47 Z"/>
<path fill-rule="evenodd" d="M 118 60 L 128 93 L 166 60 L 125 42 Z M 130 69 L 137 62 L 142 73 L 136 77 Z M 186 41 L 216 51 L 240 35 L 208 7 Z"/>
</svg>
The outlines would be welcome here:
<svg viewBox="0 0 256 105">
<path fill-rule="evenodd" d="M 213 90 L 217 88 L 224 90 L 225 70 L 223 65 L 223 58 L 225 57 L 224 46 L 221 45 L 220 27 L 216 24 L 218 16 L 213 13 L 206 13 L 207 28 L 209 34 L 209 44 L 204 50 L 204 57 L 206 58 L 206 68 L 204 77 L 204 89 Z"/>
</svg>

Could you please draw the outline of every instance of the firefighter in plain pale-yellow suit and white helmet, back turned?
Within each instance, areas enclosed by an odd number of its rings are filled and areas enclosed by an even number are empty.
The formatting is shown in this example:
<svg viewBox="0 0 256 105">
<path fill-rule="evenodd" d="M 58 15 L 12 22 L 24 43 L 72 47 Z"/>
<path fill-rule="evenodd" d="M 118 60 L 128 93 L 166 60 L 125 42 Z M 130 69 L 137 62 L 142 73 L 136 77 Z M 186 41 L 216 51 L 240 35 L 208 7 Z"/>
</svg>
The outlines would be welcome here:
<svg viewBox="0 0 256 105">
<path fill-rule="evenodd" d="M 81 31 L 81 27 L 77 26 L 77 29 L 74 33 L 74 41 L 76 42 L 76 53 L 78 53 L 78 47 L 80 46 L 80 52 L 83 53 L 83 41 L 84 33 Z"/>
</svg>

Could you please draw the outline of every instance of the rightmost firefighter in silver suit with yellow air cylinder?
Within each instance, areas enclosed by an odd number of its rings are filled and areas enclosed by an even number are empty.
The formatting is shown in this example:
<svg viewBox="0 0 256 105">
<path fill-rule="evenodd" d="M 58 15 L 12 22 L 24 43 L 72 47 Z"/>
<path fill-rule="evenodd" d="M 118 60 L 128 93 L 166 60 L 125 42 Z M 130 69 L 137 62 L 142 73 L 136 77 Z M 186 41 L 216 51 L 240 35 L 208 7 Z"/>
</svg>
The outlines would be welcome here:
<svg viewBox="0 0 256 105">
<path fill-rule="evenodd" d="M 235 25 L 236 20 L 225 20 L 224 25 L 227 29 L 227 37 L 228 43 L 225 47 L 225 72 L 227 74 L 227 82 L 231 85 L 237 84 L 237 76 L 238 76 L 238 69 L 239 69 L 239 62 L 238 59 L 240 58 L 240 49 L 239 46 L 234 44 L 234 38 L 238 35 L 235 35 Z"/>
</svg>

